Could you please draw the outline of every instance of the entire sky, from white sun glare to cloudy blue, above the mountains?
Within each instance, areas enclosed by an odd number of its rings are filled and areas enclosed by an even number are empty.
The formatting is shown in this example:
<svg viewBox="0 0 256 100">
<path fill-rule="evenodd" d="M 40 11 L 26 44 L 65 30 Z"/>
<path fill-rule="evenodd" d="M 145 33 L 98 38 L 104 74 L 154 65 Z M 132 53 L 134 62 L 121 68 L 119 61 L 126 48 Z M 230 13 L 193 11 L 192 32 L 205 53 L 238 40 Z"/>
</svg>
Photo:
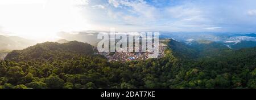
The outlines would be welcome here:
<svg viewBox="0 0 256 100">
<path fill-rule="evenodd" d="M 256 32 L 255 0 L 1 0 L 0 34 L 65 31 Z"/>
</svg>

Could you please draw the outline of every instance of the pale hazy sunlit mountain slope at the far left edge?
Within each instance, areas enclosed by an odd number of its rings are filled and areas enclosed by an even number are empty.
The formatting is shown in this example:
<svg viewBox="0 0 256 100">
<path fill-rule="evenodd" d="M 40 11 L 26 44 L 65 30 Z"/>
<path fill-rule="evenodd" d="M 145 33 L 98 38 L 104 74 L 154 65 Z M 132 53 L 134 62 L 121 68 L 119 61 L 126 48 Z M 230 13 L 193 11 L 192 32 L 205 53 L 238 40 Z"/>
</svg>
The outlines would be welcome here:
<svg viewBox="0 0 256 100">
<path fill-rule="evenodd" d="M 0 50 L 20 50 L 35 44 L 35 41 L 22 37 L 0 35 Z"/>
</svg>

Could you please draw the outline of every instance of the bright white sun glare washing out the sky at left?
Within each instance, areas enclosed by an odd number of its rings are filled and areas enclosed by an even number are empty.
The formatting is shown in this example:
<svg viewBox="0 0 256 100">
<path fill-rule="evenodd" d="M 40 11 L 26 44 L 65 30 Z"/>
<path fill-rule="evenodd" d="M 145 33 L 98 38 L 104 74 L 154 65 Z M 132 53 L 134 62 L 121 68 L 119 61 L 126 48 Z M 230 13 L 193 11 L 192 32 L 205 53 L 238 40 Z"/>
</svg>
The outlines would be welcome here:
<svg viewBox="0 0 256 100">
<path fill-rule="evenodd" d="M 90 28 L 72 0 L 1 0 L 0 27 L 5 32 L 39 41 L 56 40 L 56 32 Z M 83 12 L 84 13 L 84 12 Z"/>
</svg>

